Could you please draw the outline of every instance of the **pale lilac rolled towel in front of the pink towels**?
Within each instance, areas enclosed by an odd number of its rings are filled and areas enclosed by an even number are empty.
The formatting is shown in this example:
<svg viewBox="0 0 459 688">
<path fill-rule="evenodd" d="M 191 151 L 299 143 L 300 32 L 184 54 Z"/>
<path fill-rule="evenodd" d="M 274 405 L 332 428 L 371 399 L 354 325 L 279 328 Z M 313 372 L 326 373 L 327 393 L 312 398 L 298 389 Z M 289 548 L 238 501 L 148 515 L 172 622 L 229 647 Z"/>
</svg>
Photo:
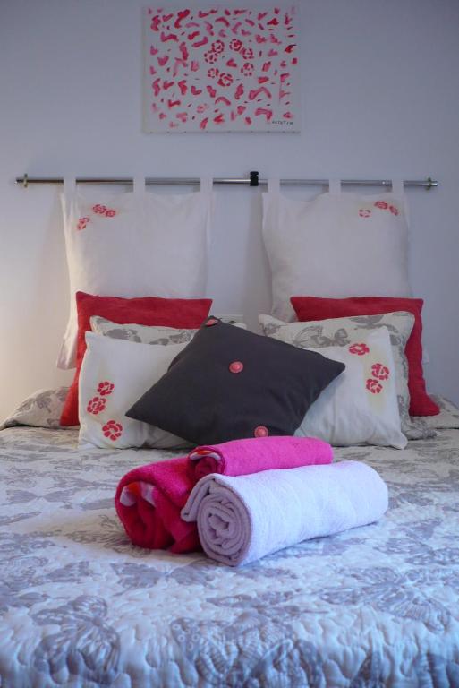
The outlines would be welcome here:
<svg viewBox="0 0 459 688">
<path fill-rule="evenodd" d="M 302 540 L 364 526 L 387 511 L 386 483 L 359 461 L 203 477 L 181 516 L 217 562 L 241 566 Z"/>
</svg>

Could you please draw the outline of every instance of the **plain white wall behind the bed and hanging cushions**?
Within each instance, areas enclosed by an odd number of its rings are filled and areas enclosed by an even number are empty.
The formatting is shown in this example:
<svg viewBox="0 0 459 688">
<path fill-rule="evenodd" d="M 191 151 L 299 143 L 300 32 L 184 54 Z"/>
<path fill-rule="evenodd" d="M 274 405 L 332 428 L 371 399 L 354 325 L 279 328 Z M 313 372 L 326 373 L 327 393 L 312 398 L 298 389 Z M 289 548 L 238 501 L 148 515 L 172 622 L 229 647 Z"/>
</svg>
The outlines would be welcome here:
<svg viewBox="0 0 459 688">
<path fill-rule="evenodd" d="M 68 299 L 57 191 L 16 188 L 26 171 L 438 177 L 438 190 L 408 192 L 411 277 L 425 298 L 429 389 L 459 402 L 457 0 L 297 0 L 301 134 L 142 133 L 143 4 L 0 3 L 0 417 L 70 380 L 54 367 Z M 253 326 L 269 307 L 259 191 L 217 193 L 208 294 Z"/>
</svg>

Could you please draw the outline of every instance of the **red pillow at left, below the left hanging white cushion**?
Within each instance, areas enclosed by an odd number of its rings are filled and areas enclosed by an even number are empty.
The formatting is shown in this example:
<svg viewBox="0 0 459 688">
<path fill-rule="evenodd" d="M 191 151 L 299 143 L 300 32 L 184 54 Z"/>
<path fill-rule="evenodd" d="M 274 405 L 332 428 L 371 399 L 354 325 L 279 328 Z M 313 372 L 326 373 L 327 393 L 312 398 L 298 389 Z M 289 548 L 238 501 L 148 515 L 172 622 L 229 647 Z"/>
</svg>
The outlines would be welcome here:
<svg viewBox="0 0 459 688">
<path fill-rule="evenodd" d="M 90 318 L 100 315 L 114 323 L 163 325 L 166 327 L 200 327 L 208 317 L 210 298 L 119 298 L 93 297 L 83 291 L 76 293 L 78 336 L 76 371 L 64 402 L 61 426 L 78 426 L 78 381 L 86 351 L 85 333 L 90 331 Z"/>
</svg>

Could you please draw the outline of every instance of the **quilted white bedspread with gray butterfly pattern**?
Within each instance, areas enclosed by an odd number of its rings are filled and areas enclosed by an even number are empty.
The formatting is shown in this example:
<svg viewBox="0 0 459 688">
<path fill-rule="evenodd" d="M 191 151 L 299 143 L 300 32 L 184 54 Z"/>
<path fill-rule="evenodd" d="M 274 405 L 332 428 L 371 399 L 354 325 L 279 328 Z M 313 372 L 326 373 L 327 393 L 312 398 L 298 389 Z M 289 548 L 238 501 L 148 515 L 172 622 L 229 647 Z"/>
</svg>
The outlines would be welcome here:
<svg viewBox="0 0 459 688">
<path fill-rule="evenodd" d="M 172 452 L 0 433 L 1 688 L 459 687 L 459 432 L 336 450 L 387 481 L 377 524 L 241 570 L 132 546 L 126 470 Z"/>
</svg>

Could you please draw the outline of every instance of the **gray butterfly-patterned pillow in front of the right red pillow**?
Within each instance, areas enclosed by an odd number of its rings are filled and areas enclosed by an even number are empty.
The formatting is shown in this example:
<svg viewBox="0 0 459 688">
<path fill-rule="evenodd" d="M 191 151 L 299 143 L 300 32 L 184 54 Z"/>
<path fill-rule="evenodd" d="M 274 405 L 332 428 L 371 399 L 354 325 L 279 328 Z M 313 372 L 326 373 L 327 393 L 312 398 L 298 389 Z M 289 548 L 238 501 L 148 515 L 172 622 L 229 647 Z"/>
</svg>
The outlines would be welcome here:
<svg viewBox="0 0 459 688">
<path fill-rule="evenodd" d="M 409 440 L 435 437 L 436 433 L 421 418 L 410 418 L 408 362 L 404 355 L 406 341 L 414 324 L 411 313 L 399 311 L 351 318 L 331 318 L 310 323 L 284 323 L 271 315 L 259 315 L 262 331 L 268 337 L 286 341 L 300 348 L 344 347 L 379 327 L 387 327 L 396 369 L 396 391 L 402 432 Z"/>
</svg>

